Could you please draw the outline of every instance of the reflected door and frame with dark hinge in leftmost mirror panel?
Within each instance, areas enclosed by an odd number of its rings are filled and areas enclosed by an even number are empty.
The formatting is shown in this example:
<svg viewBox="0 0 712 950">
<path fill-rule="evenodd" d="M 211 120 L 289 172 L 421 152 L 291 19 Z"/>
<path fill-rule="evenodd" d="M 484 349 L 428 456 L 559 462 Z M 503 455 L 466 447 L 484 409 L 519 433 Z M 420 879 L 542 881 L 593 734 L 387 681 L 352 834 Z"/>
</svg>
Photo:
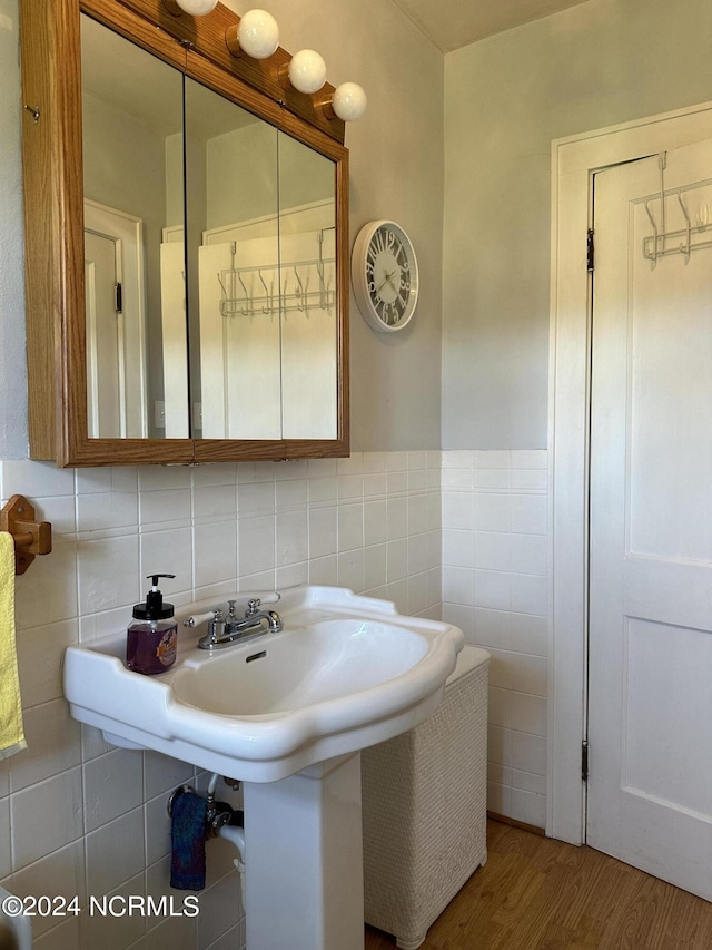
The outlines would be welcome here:
<svg viewBox="0 0 712 950">
<path fill-rule="evenodd" d="M 85 202 L 87 412 L 91 438 L 147 435 L 141 222 Z"/>
</svg>

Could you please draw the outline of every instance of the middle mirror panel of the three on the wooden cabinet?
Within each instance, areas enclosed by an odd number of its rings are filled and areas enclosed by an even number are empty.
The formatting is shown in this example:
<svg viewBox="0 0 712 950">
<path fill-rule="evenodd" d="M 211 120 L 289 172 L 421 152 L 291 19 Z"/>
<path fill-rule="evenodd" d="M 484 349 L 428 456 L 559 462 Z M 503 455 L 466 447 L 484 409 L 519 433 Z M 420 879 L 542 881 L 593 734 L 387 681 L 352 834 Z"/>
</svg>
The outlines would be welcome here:
<svg viewBox="0 0 712 950">
<path fill-rule="evenodd" d="M 277 135 L 186 80 L 196 438 L 281 439 Z"/>
</svg>

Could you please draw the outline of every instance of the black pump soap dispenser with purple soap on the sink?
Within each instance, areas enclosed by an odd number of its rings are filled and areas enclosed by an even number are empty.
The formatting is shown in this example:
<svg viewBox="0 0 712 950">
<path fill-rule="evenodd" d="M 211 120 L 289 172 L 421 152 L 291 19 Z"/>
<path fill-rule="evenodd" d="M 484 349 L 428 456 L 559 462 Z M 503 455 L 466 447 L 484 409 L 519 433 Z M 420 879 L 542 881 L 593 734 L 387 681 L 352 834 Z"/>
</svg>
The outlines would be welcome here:
<svg viewBox="0 0 712 950">
<path fill-rule="evenodd" d="M 134 621 L 126 636 L 126 665 L 136 673 L 155 676 L 165 673 L 176 662 L 178 625 L 174 618 L 174 605 L 164 601 L 158 589 L 159 577 L 175 574 L 149 574 L 152 587 L 144 604 L 134 607 Z"/>
</svg>

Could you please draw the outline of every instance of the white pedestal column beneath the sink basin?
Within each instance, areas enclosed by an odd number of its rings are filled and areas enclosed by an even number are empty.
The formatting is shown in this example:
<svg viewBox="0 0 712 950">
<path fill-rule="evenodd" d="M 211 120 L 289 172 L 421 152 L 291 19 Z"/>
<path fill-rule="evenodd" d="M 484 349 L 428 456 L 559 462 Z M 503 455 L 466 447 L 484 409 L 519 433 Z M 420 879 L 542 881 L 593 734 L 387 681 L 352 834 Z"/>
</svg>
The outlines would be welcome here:
<svg viewBox="0 0 712 950">
<path fill-rule="evenodd" d="M 244 784 L 247 950 L 363 950 L 360 753 Z"/>
</svg>

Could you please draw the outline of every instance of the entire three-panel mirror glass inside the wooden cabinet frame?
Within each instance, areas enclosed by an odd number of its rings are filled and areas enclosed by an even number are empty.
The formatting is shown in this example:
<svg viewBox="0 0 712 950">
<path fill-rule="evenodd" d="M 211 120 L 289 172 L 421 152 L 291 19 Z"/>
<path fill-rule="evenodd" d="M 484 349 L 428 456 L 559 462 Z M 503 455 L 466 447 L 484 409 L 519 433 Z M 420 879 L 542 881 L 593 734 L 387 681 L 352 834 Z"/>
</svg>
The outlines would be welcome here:
<svg viewBox="0 0 712 950">
<path fill-rule="evenodd" d="M 335 439 L 334 163 L 81 21 L 89 437 Z"/>
</svg>

